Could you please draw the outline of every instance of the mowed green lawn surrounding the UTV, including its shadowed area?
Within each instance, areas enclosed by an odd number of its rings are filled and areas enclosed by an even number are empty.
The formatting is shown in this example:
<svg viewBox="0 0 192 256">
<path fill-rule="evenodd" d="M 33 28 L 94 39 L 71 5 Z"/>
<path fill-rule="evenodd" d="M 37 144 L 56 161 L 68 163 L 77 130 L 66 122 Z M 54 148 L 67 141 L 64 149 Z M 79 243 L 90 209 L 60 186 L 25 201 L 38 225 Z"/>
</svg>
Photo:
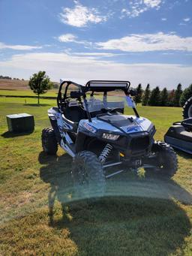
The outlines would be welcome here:
<svg viewBox="0 0 192 256">
<path fill-rule="evenodd" d="M 170 181 L 122 173 L 107 181 L 104 197 L 74 198 L 71 157 L 41 149 L 55 101 L 40 103 L 0 98 L 0 255 L 192 255 L 192 158 L 178 152 Z M 154 122 L 157 140 L 181 119 L 181 108 L 138 111 Z M 34 132 L 9 134 L 10 113 L 33 114 Z"/>
</svg>

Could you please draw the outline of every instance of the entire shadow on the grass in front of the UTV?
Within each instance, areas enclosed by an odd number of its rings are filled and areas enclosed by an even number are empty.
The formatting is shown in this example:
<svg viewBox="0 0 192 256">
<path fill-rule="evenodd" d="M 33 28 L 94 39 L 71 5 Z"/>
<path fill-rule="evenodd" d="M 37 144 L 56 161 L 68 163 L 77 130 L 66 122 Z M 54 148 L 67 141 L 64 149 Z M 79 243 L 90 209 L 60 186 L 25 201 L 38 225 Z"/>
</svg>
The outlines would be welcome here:
<svg viewBox="0 0 192 256">
<path fill-rule="evenodd" d="M 71 157 L 40 152 L 39 161 L 40 178 L 50 184 L 49 225 L 58 232 L 68 229 L 80 255 L 183 254 L 191 225 L 175 200 L 190 205 L 192 196 L 173 180 L 123 173 L 107 181 L 104 197 L 78 199 Z"/>
</svg>

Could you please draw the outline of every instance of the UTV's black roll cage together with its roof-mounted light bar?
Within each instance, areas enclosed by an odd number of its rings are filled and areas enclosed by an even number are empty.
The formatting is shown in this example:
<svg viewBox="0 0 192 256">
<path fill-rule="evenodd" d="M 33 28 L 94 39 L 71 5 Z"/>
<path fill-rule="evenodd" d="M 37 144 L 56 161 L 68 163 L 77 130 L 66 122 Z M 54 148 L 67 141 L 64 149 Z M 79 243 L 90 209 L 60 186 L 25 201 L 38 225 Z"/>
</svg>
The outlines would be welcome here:
<svg viewBox="0 0 192 256">
<path fill-rule="evenodd" d="M 62 87 L 66 84 L 65 92 L 62 97 Z M 78 91 L 74 94 L 74 97 L 68 96 L 69 86 L 77 86 Z M 59 89 L 58 89 L 58 97 L 57 97 L 57 105 L 58 109 L 62 112 L 63 107 L 65 107 L 65 103 L 67 98 L 77 98 L 80 102 L 82 102 L 81 98 L 83 97 L 84 105 L 86 108 L 86 113 L 89 119 L 89 122 L 92 122 L 91 115 L 89 113 L 88 103 L 86 99 L 86 92 L 92 92 L 91 95 L 94 95 L 94 92 L 104 92 L 104 95 L 107 96 L 107 92 L 112 92 L 115 89 L 121 90 L 124 92 L 126 96 L 133 96 L 135 92 L 130 89 L 129 81 L 117 81 L 117 80 L 90 80 L 86 83 L 85 86 L 75 83 L 71 80 L 61 80 Z M 139 114 L 136 111 L 135 107 L 132 107 L 136 117 L 139 117 Z"/>
</svg>

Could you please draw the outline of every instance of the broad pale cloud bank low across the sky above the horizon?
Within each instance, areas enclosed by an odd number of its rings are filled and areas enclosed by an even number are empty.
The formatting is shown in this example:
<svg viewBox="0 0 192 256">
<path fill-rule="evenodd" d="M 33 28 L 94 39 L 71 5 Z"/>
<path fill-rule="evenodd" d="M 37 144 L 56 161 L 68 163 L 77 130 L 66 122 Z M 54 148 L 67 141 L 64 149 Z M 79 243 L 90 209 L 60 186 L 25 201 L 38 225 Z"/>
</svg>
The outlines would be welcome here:
<svg viewBox="0 0 192 256">
<path fill-rule="evenodd" d="M 54 67 L 54 68 L 52 68 Z M 192 68 L 187 65 L 154 63 L 124 64 L 71 56 L 66 53 L 26 53 L 12 56 L 0 62 L 1 74 L 28 79 L 34 72 L 45 70 L 52 80 L 70 77 L 77 83 L 87 80 L 130 80 L 133 86 L 150 83 L 151 86 L 167 86 L 168 89 L 182 83 L 191 83 Z"/>
</svg>

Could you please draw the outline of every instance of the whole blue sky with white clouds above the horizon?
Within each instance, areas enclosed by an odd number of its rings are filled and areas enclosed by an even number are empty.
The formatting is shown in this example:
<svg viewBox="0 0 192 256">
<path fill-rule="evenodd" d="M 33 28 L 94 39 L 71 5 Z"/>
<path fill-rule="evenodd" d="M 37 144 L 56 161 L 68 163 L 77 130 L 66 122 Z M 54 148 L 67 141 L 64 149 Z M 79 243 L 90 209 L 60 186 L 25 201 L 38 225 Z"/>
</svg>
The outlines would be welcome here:
<svg viewBox="0 0 192 256">
<path fill-rule="evenodd" d="M 0 74 L 192 83 L 192 0 L 0 0 Z"/>
</svg>

